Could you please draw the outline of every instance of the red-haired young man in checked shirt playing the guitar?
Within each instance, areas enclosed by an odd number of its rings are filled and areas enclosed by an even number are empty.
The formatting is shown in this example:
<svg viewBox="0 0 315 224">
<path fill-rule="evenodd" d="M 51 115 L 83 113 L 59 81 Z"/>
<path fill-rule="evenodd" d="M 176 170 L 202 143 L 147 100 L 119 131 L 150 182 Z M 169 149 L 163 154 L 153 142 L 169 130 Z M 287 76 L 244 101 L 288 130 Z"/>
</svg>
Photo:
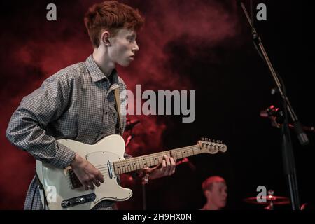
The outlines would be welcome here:
<svg viewBox="0 0 315 224">
<path fill-rule="evenodd" d="M 6 137 L 15 146 L 50 165 L 71 166 L 85 190 L 93 189 L 104 178 L 90 162 L 57 139 L 73 139 L 95 144 L 120 132 L 114 90 L 126 90 L 116 64 L 128 66 L 139 50 L 137 31 L 144 18 L 137 10 L 116 1 L 95 4 L 85 14 L 85 26 L 94 51 L 85 62 L 73 64 L 47 78 L 41 87 L 22 99 L 13 113 Z M 121 99 L 124 100 L 124 99 Z M 122 130 L 126 120 L 122 114 Z M 127 155 L 125 155 L 127 157 Z M 174 174 L 174 158 L 144 169 L 150 179 Z M 113 202 L 103 201 L 95 209 L 112 209 Z M 25 209 L 43 209 L 36 178 L 31 181 Z"/>
</svg>

